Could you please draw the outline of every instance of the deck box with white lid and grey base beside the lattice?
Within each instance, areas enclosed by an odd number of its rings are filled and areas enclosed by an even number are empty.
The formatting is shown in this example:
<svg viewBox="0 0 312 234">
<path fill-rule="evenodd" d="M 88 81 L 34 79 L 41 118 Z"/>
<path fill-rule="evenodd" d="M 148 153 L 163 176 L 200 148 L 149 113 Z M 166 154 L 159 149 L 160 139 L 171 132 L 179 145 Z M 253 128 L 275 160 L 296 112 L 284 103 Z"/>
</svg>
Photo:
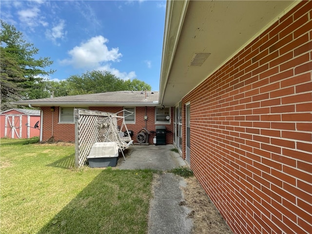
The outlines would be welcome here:
<svg viewBox="0 0 312 234">
<path fill-rule="evenodd" d="M 116 167 L 118 145 L 116 142 L 97 142 L 87 156 L 90 167 Z"/>
</svg>

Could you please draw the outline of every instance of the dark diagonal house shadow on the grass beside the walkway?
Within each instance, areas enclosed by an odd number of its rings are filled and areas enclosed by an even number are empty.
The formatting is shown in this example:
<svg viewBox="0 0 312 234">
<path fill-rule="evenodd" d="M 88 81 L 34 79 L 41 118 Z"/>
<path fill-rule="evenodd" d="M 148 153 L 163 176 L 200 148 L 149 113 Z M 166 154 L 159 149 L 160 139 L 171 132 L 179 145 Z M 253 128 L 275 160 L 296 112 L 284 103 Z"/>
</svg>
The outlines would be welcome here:
<svg viewBox="0 0 312 234">
<path fill-rule="evenodd" d="M 103 170 L 38 234 L 145 234 L 151 170 Z"/>
</svg>

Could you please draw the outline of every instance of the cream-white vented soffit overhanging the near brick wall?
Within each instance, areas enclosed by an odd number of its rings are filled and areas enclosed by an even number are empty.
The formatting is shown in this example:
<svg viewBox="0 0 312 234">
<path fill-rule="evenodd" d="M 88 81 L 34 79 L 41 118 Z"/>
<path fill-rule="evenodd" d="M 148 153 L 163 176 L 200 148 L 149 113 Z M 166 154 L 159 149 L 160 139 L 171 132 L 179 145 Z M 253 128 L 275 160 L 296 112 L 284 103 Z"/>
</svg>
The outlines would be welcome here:
<svg viewBox="0 0 312 234">
<path fill-rule="evenodd" d="M 165 23 L 167 42 L 164 38 L 160 104 L 174 106 L 298 2 L 198 0 L 189 1 L 177 9 L 168 8 L 166 15 L 175 17 Z M 168 16 L 166 20 L 169 20 Z M 179 27 L 170 28 L 168 25 Z M 170 43 L 173 38 L 176 43 Z M 195 60 L 195 54 L 209 54 L 209 57 L 200 65 L 201 60 Z M 192 60 L 197 66 L 191 65 Z"/>
</svg>

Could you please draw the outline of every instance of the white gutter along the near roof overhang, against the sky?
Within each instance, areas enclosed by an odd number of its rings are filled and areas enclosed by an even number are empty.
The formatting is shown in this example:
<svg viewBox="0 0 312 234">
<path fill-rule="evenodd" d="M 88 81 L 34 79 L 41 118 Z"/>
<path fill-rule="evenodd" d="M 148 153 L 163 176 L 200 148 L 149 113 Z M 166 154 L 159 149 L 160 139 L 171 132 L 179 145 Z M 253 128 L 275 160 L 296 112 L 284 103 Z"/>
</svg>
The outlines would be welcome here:
<svg viewBox="0 0 312 234">
<path fill-rule="evenodd" d="M 176 54 L 176 47 L 181 34 L 183 22 L 189 5 L 189 0 L 168 0 L 166 6 L 166 19 L 164 41 L 162 47 L 162 61 L 159 82 L 159 103 L 162 104 L 168 83 L 171 66 Z"/>
</svg>

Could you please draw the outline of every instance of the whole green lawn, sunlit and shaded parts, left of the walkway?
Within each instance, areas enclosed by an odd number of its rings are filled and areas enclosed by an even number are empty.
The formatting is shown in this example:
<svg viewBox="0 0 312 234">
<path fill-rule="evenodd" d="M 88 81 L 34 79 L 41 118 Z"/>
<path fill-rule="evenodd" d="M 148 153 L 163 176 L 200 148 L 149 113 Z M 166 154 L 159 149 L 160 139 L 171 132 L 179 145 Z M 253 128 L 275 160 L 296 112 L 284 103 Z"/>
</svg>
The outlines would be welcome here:
<svg viewBox="0 0 312 234">
<path fill-rule="evenodd" d="M 153 171 L 74 169 L 73 145 L 0 147 L 1 234 L 147 232 Z"/>
</svg>

